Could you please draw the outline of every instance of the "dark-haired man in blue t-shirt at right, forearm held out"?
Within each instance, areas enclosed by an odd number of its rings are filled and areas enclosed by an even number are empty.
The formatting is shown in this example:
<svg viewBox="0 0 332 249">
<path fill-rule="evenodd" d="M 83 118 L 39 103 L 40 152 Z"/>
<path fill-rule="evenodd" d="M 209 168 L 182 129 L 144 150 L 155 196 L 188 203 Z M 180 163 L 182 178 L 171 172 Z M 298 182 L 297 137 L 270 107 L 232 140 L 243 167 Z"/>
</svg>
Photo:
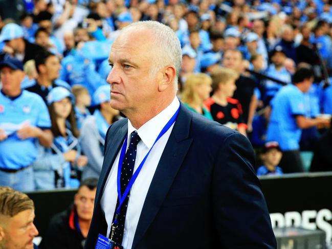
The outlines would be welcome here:
<svg viewBox="0 0 332 249">
<path fill-rule="evenodd" d="M 280 167 L 284 173 L 303 172 L 300 156 L 302 129 L 328 125 L 326 119 L 307 118 L 305 96 L 314 81 L 309 65 L 298 67 L 293 84 L 282 87 L 271 101 L 272 113 L 267 131 L 267 141 L 277 141 L 283 152 Z"/>
</svg>

